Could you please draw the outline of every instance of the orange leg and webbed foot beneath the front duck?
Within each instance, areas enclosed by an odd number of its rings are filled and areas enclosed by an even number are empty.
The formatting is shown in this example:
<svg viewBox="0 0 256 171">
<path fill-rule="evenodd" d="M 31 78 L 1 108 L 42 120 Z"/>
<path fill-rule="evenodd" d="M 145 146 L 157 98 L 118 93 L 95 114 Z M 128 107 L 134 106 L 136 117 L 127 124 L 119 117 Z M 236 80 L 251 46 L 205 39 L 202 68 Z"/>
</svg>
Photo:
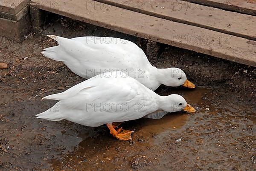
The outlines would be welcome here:
<svg viewBox="0 0 256 171">
<path fill-rule="evenodd" d="M 106 123 L 109 130 L 110 130 L 110 134 L 112 134 L 114 137 L 116 137 L 118 140 L 122 140 L 122 141 L 128 141 L 131 140 L 131 134 L 134 133 L 134 131 L 128 131 L 128 130 L 124 130 L 121 128 L 119 128 L 117 131 L 113 128 L 112 123 Z"/>
</svg>

